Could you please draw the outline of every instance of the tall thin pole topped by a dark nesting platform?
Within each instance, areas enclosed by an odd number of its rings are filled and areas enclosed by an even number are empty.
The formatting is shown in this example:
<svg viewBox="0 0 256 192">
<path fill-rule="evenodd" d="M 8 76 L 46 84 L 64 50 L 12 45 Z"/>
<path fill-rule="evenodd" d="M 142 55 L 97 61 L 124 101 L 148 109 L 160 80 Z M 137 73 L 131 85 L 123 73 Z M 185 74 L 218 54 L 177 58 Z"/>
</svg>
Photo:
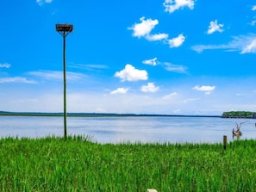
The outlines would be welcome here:
<svg viewBox="0 0 256 192">
<path fill-rule="evenodd" d="M 63 82 L 64 82 L 64 137 L 66 138 L 66 35 L 73 31 L 73 25 L 56 24 L 56 31 L 63 36 Z"/>
</svg>

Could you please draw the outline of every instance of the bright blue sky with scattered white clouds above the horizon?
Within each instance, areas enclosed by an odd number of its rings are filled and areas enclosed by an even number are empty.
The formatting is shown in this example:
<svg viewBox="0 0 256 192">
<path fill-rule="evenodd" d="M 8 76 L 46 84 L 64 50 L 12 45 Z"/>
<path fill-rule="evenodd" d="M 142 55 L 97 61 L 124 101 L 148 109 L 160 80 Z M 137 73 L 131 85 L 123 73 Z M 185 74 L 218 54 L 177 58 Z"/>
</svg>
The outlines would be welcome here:
<svg viewBox="0 0 256 192">
<path fill-rule="evenodd" d="M 0 110 L 255 111 L 253 0 L 1 0 Z"/>
</svg>

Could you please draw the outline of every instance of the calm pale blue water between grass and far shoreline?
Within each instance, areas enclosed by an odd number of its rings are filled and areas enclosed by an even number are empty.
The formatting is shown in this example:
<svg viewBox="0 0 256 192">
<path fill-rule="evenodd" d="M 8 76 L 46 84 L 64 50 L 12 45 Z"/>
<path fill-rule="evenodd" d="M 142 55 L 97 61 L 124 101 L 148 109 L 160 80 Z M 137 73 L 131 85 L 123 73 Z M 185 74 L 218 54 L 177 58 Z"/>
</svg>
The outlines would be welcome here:
<svg viewBox="0 0 256 192">
<path fill-rule="evenodd" d="M 217 117 L 68 117 L 67 133 L 89 135 L 99 143 L 171 142 L 215 143 L 223 135 L 232 140 L 235 123 L 241 125 L 240 139 L 256 139 L 254 119 Z M 0 116 L 0 137 L 39 138 L 63 136 L 62 117 Z"/>
</svg>

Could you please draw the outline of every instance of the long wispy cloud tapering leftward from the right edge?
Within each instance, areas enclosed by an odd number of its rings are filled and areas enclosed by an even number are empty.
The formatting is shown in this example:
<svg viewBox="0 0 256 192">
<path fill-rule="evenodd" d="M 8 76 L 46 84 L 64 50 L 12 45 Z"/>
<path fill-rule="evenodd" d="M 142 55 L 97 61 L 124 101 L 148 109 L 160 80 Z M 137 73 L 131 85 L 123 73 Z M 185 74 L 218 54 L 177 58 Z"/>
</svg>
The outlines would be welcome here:
<svg viewBox="0 0 256 192">
<path fill-rule="evenodd" d="M 191 49 L 197 53 L 202 53 L 204 50 L 223 49 L 228 52 L 256 53 L 256 34 L 234 36 L 233 40 L 227 44 L 220 45 L 197 45 L 191 46 Z"/>
</svg>

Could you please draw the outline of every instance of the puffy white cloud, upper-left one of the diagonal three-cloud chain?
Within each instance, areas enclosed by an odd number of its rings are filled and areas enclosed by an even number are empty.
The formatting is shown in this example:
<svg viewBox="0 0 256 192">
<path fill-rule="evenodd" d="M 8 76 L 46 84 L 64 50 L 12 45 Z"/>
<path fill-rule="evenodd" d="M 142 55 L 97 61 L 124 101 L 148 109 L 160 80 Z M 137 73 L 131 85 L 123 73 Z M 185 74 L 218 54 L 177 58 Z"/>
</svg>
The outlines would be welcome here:
<svg viewBox="0 0 256 192">
<path fill-rule="evenodd" d="M 134 37 L 144 37 L 147 34 L 150 34 L 152 29 L 159 24 L 157 19 L 147 19 L 145 17 L 140 17 L 140 23 L 135 23 L 132 27 L 128 29 L 132 29 L 134 31 Z"/>
</svg>

